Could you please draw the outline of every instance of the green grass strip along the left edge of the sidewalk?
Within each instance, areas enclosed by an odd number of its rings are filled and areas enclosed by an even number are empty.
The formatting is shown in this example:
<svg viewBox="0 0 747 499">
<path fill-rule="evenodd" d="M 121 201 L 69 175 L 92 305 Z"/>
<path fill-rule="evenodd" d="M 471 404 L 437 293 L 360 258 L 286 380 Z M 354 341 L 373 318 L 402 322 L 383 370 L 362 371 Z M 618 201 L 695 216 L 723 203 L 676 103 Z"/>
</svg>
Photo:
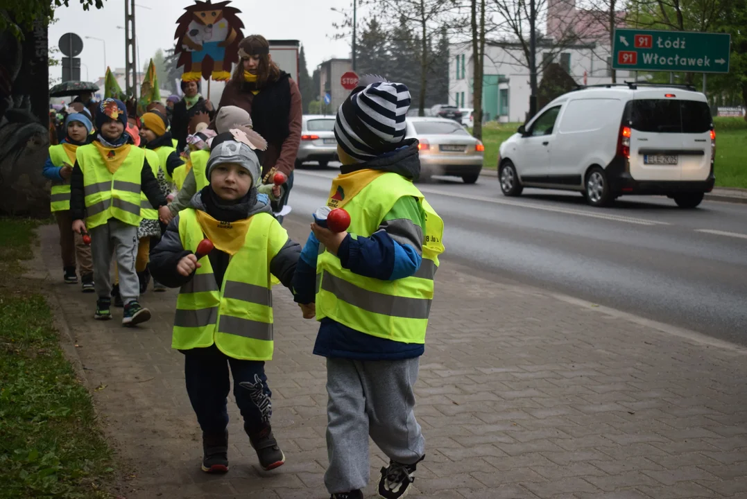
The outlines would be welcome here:
<svg viewBox="0 0 747 499">
<path fill-rule="evenodd" d="M 20 277 L 36 222 L 0 218 L 0 499 L 110 498 L 111 453 L 52 313 Z"/>
</svg>

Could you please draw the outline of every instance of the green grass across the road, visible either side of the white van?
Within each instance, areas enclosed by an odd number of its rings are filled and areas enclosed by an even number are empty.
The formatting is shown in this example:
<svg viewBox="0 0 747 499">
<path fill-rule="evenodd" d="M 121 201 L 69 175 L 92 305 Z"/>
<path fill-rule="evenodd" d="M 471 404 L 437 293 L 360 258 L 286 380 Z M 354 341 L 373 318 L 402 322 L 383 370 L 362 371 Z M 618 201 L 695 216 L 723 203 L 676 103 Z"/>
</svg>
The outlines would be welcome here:
<svg viewBox="0 0 747 499">
<path fill-rule="evenodd" d="M 742 118 L 714 118 L 716 127 L 716 186 L 747 188 L 747 122 Z M 491 122 L 483 127 L 486 169 L 498 167 L 498 148 L 521 123 Z"/>
</svg>

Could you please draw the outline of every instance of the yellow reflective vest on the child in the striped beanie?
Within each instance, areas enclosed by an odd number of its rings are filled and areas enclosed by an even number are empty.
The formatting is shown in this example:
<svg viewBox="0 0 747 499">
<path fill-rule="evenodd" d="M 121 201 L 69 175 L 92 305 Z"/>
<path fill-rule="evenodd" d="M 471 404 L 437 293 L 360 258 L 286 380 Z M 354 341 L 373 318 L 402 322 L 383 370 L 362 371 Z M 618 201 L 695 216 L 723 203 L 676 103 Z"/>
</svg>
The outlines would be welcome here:
<svg viewBox="0 0 747 499">
<path fill-rule="evenodd" d="M 346 200 L 351 236 L 371 236 L 399 198 L 420 201 L 426 214 L 423 257 L 418 272 L 397 280 L 364 277 L 343 269 L 340 259 L 319 246 L 317 320 L 329 317 L 362 333 L 403 343 L 425 343 L 433 277 L 444 252 L 444 222 L 412 182 L 395 173 L 379 175 Z"/>
</svg>

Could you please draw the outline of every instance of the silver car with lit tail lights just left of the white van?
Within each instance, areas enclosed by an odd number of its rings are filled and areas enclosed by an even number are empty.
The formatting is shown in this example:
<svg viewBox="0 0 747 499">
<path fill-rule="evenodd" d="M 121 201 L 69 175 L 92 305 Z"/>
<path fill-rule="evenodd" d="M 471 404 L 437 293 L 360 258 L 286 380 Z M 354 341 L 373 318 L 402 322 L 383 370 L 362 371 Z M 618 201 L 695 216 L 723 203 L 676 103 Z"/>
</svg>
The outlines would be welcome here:
<svg viewBox="0 0 747 499">
<path fill-rule="evenodd" d="M 408 118 L 406 123 L 406 138 L 419 142 L 421 180 L 433 175 L 453 175 L 465 183 L 477 182 L 483 169 L 483 142 L 452 119 Z"/>
</svg>

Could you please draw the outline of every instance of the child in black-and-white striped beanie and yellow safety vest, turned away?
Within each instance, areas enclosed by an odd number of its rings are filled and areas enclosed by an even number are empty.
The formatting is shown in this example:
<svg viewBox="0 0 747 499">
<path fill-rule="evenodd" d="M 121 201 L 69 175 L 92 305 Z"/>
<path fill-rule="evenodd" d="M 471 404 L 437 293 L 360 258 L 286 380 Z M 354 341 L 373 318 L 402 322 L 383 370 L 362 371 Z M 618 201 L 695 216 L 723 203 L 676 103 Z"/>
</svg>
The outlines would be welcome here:
<svg viewBox="0 0 747 499">
<path fill-rule="evenodd" d="M 412 183 L 421 164 L 418 140 L 405 139 L 409 104 L 405 85 L 364 77 L 341 105 L 341 175 L 314 213 L 294 277 L 304 317 L 320 321 L 314 354 L 326 357 L 332 499 L 363 498 L 369 436 L 390 459 L 381 498 L 403 497 L 425 457 L 413 385 L 444 226 Z M 347 231 L 326 228 L 334 208 L 349 213 Z"/>
</svg>

